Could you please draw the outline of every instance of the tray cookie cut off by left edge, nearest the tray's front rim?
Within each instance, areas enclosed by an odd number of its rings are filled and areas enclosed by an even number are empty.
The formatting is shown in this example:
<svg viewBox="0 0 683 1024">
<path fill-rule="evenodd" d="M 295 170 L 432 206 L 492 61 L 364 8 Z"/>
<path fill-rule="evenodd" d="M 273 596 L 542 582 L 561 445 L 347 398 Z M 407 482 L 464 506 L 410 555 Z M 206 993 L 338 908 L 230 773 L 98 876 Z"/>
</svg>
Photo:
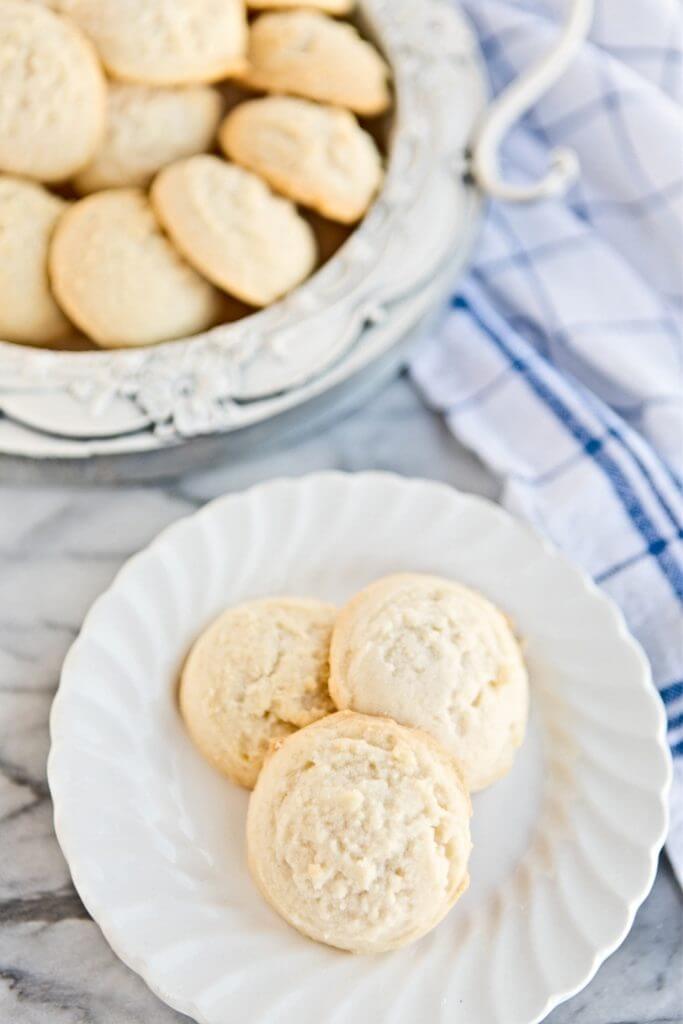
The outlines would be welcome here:
<svg viewBox="0 0 683 1024">
<path fill-rule="evenodd" d="M 0 175 L 0 338 L 50 345 L 72 326 L 52 297 L 47 248 L 67 209 L 42 185 Z"/>
</svg>

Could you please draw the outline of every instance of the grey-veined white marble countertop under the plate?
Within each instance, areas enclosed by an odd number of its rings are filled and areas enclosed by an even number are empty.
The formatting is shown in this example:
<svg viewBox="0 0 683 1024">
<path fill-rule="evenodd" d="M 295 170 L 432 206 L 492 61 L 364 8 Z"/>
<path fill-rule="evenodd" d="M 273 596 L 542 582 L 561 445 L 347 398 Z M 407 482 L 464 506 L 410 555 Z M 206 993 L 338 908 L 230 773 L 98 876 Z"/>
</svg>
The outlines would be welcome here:
<svg viewBox="0 0 683 1024">
<path fill-rule="evenodd" d="M 323 468 L 390 469 L 492 497 L 497 492 L 404 379 L 351 419 L 249 463 L 147 487 L 0 484 L 2 1024 L 186 1020 L 117 959 L 71 885 L 52 830 L 45 777 L 50 702 L 88 606 L 129 555 L 210 498 L 270 476 Z M 682 906 L 663 860 L 622 948 L 548 1020 L 681 1024 Z"/>
</svg>

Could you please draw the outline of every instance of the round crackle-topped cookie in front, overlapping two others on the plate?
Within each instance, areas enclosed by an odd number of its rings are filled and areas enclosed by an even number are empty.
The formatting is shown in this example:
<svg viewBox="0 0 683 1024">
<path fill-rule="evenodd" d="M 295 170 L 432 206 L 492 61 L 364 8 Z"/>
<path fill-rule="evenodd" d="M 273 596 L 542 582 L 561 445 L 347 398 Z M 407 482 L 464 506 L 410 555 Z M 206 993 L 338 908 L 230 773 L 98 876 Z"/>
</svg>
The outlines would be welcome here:
<svg viewBox="0 0 683 1024">
<path fill-rule="evenodd" d="M 455 760 L 390 719 L 342 712 L 286 739 L 249 802 L 249 866 L 304 935 L 378 953 L 467 888 L 470 802 Z"/>
</svg>

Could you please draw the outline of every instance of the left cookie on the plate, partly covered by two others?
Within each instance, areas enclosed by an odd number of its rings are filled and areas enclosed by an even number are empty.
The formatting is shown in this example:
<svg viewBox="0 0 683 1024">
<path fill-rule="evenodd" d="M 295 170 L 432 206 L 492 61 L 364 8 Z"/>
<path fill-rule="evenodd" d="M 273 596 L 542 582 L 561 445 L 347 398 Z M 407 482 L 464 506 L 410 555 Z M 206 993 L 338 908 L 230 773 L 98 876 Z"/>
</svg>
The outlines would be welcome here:
<svg viewBox="0 0 683 1024">
<path fill-rule="evenodd" d="M 182 671 L 180 712 L 204 757 L 251 788 L 272 740 L 333 711 L 330 636 L 337 609 L 294 597 L 228 608 Z"/>
</svg>

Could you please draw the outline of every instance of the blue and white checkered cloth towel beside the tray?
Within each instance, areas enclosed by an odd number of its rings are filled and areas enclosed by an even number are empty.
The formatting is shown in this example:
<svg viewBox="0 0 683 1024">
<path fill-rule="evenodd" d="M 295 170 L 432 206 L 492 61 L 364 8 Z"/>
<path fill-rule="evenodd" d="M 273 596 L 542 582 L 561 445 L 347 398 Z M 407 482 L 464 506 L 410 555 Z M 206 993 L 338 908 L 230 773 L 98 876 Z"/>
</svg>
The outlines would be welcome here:
<svg viewBox="0 0 683 1024">
<path fill-rule="evenodd" d="M 464 0 L 495 90 L 548 49 L 566 2 Z M 508 176 L 536 179 L 570 145 L 580 183 L 492 205 L 412 371 L 505 503 L 593 574 L 647 651 L 683 884 L 682 94 L 680 0 L 600 0 L 590 41 L 505 150 Z"/>
</svg>

